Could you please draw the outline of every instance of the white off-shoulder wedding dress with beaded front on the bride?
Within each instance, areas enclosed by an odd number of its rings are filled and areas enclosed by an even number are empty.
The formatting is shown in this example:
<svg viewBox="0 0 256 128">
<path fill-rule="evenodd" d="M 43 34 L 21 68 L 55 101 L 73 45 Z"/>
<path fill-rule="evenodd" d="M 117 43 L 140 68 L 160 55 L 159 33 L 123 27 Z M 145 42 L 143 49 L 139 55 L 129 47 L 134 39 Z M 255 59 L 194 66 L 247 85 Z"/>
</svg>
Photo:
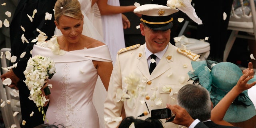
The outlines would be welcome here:
<svg viewBox="0 0 256 128">
<path fill-rule="evenodd" d="M 50 56 L 56 63 L 56 73 L 49 80 L 52 88 L 45 123 L 64 124 L 66 128 L 100 128 L 92 102 L 98 78 L 92 60 L 111 62 L 108 46 L 74 50 L 61 56 L 53 54 L 50 48 L 34 45 L 32 53 Z"/>
</svg>

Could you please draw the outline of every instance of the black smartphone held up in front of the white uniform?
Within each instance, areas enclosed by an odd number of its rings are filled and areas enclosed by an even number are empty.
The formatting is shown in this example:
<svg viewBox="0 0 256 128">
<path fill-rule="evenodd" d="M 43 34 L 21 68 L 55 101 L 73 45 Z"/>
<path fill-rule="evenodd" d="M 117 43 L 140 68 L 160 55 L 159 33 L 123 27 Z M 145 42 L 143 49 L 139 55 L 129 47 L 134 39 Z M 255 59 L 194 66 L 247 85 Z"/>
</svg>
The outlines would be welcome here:
<svg viewBox="0 0 256 128">
<path fill-rule="evenodd" d="M 172 117 L 172 111 L 168 108 L 151 110 L 152 119 L 166 119 Z"/>
</svg>

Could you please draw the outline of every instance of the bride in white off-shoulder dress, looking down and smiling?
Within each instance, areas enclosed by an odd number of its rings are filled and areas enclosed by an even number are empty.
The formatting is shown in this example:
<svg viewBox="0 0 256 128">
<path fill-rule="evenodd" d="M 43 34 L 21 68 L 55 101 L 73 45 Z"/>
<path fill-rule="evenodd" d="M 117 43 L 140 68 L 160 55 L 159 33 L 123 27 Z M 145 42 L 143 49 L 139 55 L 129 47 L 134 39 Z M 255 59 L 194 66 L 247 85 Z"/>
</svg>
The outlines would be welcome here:
<svg viewBox="0 0 256 128">
<path fill-rule="evenodd" d="M 84 36 L 82 31 L 90 25 L 84 20 L 78 0 L 57 0 L 55 24 L 62 36 L 53 36 L 47 44 L 58 43 L 62 54 L 54 54 L 49 46 L 34 45 L 32 56 L 50 56 L 56 73 L 48 80 L 52 84 L 45 123 L 64 124 L 68 128 L 100 128 L 92 97 L 98 76 L 108 89 L 112 60 L 108 46 L 101 41 Z M 83 24 L 88 28 L 83 29 Z M 103 87 L 102 87 L 103 88 Z M 96 95 L 101 95 L 96 94 Z M 45 104 L 46 105 L 46 104 Z"/>
</svg>

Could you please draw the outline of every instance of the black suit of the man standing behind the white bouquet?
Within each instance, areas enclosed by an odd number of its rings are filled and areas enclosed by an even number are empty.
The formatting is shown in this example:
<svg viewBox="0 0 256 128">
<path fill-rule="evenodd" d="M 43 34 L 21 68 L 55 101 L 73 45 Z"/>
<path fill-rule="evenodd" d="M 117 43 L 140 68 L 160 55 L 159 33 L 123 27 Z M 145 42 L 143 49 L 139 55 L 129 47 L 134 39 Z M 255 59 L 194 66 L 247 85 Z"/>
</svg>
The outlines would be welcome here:
<svg viewBox="0 0 256 128">
<path fill-rule="evenodd" d="M 22 111 L 22 120 L 26 121 L 26 124 L 22 128 L 33 128 L 39 124 L 44 124 L 43 114 L 38 111 L 36 104 L 28 99 L 30 91 L 23 82 L 25 80 L 23 71 L 26 69 L 27 61 L 32 56 L 30 51 L 33 49 L 31 41 L 35 39 L 39 32 L 36 28 L 46 33 L 48 39 L 54 35 L 54 5 L 56 0 L 20 0 L 12 22 L 10 24 L 10 41 L 11 41 L 11 54 L 17 56 L 17 67 L 13 68 L 16 76 L 20 78 L 18 82 L 18 88 L 20 93 L 20 105 Z M 32 17 L 33 11 L 37 10 L 34 15 L 33 21 L 31 22 L 27 14 Z M 52 20 L 45 20 L 45 13 L 52 14 Z M 22 31 L 21 27 L 25 28 L 25 32 Z M 21 36 L 24 34 L 29 43 L 22 43 Z M 47 39 L 47 40 L 48 40 Z M 19 58 L 22 52 L 26 51 L 26 55 L 23 58 Z M 15 64 L 16 62 L 12 63 Z M 10 64 L 12 66 L 12 64 Z M 46 111 L 45 108 L 44 111 Z M 34 112 L 33 116 L 30 117 L 30 113 Z"/>
</svg>

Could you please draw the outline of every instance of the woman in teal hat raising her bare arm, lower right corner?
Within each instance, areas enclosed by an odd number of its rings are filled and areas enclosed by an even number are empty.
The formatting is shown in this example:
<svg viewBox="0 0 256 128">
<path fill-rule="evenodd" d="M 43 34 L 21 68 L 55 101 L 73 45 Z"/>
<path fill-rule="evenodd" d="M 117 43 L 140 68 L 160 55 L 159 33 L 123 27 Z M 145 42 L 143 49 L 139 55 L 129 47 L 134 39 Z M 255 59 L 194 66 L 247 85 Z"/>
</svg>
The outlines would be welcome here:
<svg viewBox="0 0 256 128">
<path fill-rule="evenodd" d="M 210 92 L 214 106 L 212 121 L 222 125 L 230 122 L 242 128 L 254 128 L 256 110 L 247 94 L 248 88 L 256 84 L 253 70 L 246 70 L 243 75 L 240 68 L 230 62 L 207 60 L 191 64 L 193 70 L 188 73 L 190 78 Z"/>
</svg>

